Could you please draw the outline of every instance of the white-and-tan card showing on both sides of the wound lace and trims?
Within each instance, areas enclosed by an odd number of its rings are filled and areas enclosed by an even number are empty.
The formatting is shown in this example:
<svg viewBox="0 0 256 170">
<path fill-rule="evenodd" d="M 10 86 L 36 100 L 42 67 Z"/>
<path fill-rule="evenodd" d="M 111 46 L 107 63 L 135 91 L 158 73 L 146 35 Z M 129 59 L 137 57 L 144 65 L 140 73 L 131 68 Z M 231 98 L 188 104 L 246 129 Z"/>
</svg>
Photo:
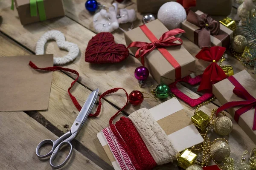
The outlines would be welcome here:
<svg viewBox="0 0 256 170">
<path fill-rule="evenodd" d="M 175 97 L 149 109 L 149 111 L 151 116 L 165 131 L 168 139 L 178 152 L 204 141 L 195 125 L 191 122 L 190 117 Z M 120 170 L 119 164 L 113 156 L 103 132 L 99 132 L 97 137 L 114 169 Z"/>
</svg>

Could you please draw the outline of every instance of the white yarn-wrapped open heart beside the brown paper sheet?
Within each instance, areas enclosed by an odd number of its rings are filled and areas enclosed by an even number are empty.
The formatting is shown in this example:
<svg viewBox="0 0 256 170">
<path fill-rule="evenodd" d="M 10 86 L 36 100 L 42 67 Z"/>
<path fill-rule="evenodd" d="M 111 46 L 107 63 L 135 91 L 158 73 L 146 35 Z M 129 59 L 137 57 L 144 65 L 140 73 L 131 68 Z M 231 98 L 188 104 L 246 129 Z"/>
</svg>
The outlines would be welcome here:
<svg viewBox="0 0 256 170">
<path fill-rule="evenodd" d="M 38 40 L 35 48 L 36 55 L 44 54 L 44 45 L 48 40 L 55 40 L 59 48 L 68 51 L 68 54 L 64 57 L 54 57 L 54 65 L 62 65 L 73 61 L 79 54 L 78 45 L 72 42 L 67 42 L 64 34 L 62 34 L 61 31 L 52 30 L 44 33 L 44 35 L 42 35 L 42 37 Z"/>
</svg>

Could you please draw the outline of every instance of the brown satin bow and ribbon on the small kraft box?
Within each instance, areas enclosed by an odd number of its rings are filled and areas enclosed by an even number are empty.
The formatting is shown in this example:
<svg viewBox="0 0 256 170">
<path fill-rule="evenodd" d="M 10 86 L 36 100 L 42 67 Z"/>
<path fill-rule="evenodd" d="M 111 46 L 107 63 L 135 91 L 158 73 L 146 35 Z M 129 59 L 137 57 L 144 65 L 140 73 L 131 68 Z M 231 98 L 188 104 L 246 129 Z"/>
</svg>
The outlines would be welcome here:
<svg viewBox="0 0 256 170">
<path fill-rule="evenodd" d="M 218 35 L 220 30 L 220 23 L 213 20 L 208 14 L 198 15 L 193 11 L 189 11 L 187 21 L 192 23 L 200 29 L 196 30 L 198 34 L 198 46 L 200 48 L 211 46 L 211 34 Z"/>
</svg>

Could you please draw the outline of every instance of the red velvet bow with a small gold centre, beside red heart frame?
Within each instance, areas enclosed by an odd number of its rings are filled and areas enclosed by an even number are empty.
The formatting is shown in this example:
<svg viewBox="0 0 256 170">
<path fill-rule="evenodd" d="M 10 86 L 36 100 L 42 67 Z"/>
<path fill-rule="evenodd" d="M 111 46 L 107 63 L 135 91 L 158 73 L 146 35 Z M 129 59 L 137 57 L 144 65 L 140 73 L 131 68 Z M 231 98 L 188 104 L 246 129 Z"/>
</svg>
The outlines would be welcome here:
<svg viewBox="0 0 256 170">
<path fill-rule="evenodd" d="M 212 62 L 204 70 L 204 74 L 198 91 L 206 90 L 208 92 L 212 92 L 212 85 L 227 77 L 225 72 L 217 64 L 218 60 L 221 59 L 225 50 L 226 48 L 220 46 L 214 46 L 211 48 L 205 47 L 198 54 L 196 54 L 196 58 Z"/>
</svg>

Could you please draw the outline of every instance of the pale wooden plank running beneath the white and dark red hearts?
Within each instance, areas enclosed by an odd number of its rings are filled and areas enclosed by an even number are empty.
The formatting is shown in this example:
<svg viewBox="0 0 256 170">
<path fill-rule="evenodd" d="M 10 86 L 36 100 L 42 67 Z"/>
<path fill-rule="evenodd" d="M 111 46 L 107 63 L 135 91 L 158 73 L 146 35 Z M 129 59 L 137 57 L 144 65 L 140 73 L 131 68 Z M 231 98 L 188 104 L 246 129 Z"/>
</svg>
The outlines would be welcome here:
<svg viewBox="0 0 256 170">
<path fill-rule="evenodd" d="M 84 51 L 88 41 L 95 34 L 78 23 L 70 20 L 67 17 L 47 20 L 40 23 L 21 26 L 18 19 L 17 11 L 9 9 L 9 0 L 0 1 L 0 11 L 3 17 L 0 31 L 9 35 L 20 44 L 24 45 L 31 51 L 35 51 L 35 44 L 38 39 L 46 31 L 57 29 L 65 34 L 66 40 L 79 45 L 81 55 L 74 61 L 64 67 L 75 69 L 81 75 L 81 82 L 84 86 L 90 89 L 99 88 L 100 94 L 114 87 L 125 88 L 128 93 L 133 90 L 140 89 L 137 79 L 134 78 L 134 70 L 140 66 L 140 62 L 134 57 L 128 57 L 125 62 L 115 65 L 93 65 L 84 61 Z M 54 54 L 55 56 L 63 56 L 66 51 L 58 50 L 56 43 L 49 43 L 46 47 L 46 54 Z M 124 64 L 125 63 L 125 64 Z M 116 74 L 118 72 L 118 74 Z M 74 77 L 74 75 L 71 75 Z M 140 89 L 141 91 L 149 92 L 150 89 Z M 109 96 L 108 100 L 119 108 L 122 108 L 125 103 L 123 96 Z M 147 99 L 141 107 L 151 108 L 159 104 L 154 99 Z M 135 111 L 138 107 L 127 108 L 128 112 Z"/>
</svg>

